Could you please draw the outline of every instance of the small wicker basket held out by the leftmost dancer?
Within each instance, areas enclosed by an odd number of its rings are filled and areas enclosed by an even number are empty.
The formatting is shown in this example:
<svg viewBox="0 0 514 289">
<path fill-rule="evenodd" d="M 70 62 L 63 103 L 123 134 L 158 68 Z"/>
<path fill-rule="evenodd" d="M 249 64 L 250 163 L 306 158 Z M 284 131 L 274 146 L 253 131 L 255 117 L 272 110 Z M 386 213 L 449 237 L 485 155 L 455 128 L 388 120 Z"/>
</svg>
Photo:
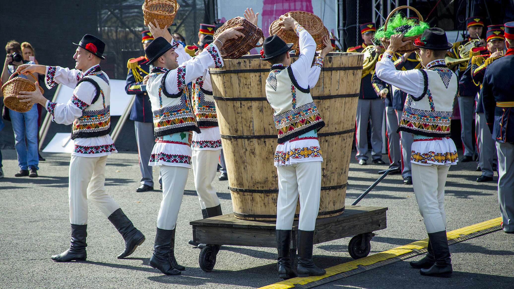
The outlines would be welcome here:
<svg viewBox="0 0 514 289">
<path fill-rule="evenodd" d="M 32 78 L 37 80 L 33 74 L 29 74 Z M 17 73 L 13 73 L 11 77 L 9 77 L 9 80 L 4 85 L 2 85 L 4 104 L 13 111 L 25 113 L 30 111 L 30 109 L 32 108 L 32 104 L 28 104 L 27 102 L 20 102 L 20 100 L 23 98 L 17 98 L 17 96 L 20 92 L 35 91 L 35 85 L 33 81 L 30 81 L 25 78 L 13 78 L 13 76 L 15 75 L 17 75 Z M 39 86 L 39 89 L 41 89 L 41 93 L 43 93 L 43 88 L 41 88 L 41 86 Z"/>
</svg>

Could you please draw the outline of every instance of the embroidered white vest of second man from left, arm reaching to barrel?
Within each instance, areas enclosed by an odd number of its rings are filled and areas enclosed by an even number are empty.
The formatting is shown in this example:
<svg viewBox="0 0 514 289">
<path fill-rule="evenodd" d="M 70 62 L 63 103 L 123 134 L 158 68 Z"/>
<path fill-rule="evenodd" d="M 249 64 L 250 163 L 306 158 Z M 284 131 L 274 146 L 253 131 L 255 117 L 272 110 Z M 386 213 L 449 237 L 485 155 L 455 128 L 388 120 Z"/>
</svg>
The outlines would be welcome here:
<svg viewBox="0 0 514 289">
<path fill-rule="evenodd" d="M 155 67 L 146 83 L 146 91 L 152 103 L 156 137 L 188 131 L 200 133 L 188 97 L 188 86 L 180 77 L 185 75 L 185 70 L 185 66 L 173 70 Z M 179 92 L 177 94 L 169 94 L 166 90 L 164 81 L 169 73 L 178 74 Z"/>
</svg>

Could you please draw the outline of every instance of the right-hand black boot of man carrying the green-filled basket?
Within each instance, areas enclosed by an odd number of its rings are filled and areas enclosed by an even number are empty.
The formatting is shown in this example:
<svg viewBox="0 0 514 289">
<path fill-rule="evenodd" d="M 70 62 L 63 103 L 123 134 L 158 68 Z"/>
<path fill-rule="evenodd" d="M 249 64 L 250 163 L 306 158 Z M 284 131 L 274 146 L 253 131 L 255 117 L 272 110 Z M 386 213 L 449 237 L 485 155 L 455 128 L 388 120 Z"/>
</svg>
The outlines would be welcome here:
<svg viewBox="0 0 514 289">
<path fill-rule="evenodd" d="M 450 258 L 450 247 L 446 238 L 446 230 L 429 233 L 428 238 L 434 252 L 435 263 L 428 269 L 421 268 L 419 273 L 425 276 L 451 277 L 453 272 Z"/>
</svg>

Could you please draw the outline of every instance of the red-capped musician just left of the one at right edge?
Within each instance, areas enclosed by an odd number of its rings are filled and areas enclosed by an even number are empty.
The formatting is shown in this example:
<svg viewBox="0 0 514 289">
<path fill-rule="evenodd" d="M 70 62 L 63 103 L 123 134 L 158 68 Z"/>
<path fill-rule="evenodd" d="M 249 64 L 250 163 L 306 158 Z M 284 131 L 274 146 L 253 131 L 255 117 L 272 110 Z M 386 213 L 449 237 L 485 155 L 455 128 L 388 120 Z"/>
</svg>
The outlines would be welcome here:
<svg viewBox="0 0 514 289">
<path fill-rule="evenodd" d="M 502 25 L 503 26 L 503 25 Z M 490 26 L 488 26 L 490 27 Z M 489 64 L 491 64 L 495 59 L 498 59 L 503 56 L 503 48 L 505 47 L 505 36 L 503 29 L 490 29 L 487 31 L 487 51 L 488 53 L 483 53 L 482 55 L 473 56 L 470 63 L 468 64 L 468 68 L 471 70 L 471 75 L 473 76 L 473 82 L 475 85 L 481 87 L 482 81 L 484 80 L 484 73 Z M 475 47 L 471 49 L 471 54 L 474 54 L 474 50 L 478 51 L 479 54 L 481 47 Z M 489 128 L 487 127 L 485 115 L 484 115 L 484 106 L 482 105 L 482 97 L 481 94 L 477 94 L 476 98 L 476 146 L 479 153 L 478 158 L 478 167 L 482 171 L 481 176 L 476 178 L 476 182 L 490 182 L 494 175 L 495 169 L 493 169 L 496 165 L 494 164 L 496 153 L 496 147 L 494 146 L 494 141 L 492 140 L 491 133 L 489 132 Z"/>
</svg>

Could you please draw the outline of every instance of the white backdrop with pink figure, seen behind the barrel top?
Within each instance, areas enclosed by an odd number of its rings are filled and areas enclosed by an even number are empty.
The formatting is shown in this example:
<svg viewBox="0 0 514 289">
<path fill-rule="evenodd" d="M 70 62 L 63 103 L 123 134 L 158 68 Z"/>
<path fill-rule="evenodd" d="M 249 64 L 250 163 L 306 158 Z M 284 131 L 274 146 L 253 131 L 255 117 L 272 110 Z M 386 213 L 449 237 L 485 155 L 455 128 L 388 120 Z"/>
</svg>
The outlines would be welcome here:
<svg viewBox="0 0 514 289">
<path fill-rule="evenodd" d="M 258 26 L 264 37 L 269 36 L 269 26 L 279 19 L 280 15 L 289 11 L 306 11 L 321 18 L 323 24 L 335 35 L 337 33 L 337 0 L 217 0 L 218 17 L 221 22 L 236 16 L 244 17 L 246 8 L 251 7 L 254 13 L 259 12 Z"/>
</svg>

